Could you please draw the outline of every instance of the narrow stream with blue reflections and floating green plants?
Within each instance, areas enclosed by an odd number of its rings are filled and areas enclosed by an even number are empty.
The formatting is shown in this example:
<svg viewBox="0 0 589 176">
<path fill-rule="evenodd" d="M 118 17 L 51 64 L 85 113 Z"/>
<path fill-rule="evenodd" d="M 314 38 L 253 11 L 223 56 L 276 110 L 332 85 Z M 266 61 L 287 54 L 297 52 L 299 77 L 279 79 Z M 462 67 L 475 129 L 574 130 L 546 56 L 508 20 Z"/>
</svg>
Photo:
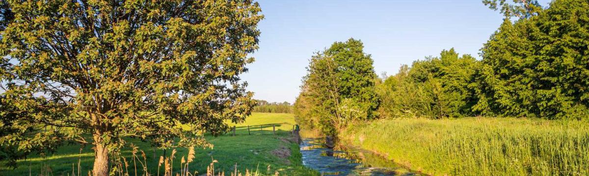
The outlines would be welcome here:
<svg viewBox="0 0 589 176">
<path fill-rule="evenodd" d="M 322 175 L 419 175 L 371 151 L 337 145 L 325 147 L 323 138 L 303 138 L 303 164 Z"/>
</svg>

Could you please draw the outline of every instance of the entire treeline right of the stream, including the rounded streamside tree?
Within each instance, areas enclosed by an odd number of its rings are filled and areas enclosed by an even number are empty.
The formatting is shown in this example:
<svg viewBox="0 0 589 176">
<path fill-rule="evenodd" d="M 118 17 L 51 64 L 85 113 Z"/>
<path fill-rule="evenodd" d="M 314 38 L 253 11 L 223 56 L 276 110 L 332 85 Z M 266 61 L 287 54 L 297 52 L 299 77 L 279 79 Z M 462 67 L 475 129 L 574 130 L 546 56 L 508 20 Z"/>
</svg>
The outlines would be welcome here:
<svg viewBox="0 0 589 176">
<path fill-rule="evenodd" d="M 374 118 L 588 119 L 589 2 L 484 2 L 505 21 L 481 60 L 443 50 L 377 78 L 359 40 L 317 53 L 294 104 L 299 123 L 333 134 L 346 121 Z"/>
</svg>

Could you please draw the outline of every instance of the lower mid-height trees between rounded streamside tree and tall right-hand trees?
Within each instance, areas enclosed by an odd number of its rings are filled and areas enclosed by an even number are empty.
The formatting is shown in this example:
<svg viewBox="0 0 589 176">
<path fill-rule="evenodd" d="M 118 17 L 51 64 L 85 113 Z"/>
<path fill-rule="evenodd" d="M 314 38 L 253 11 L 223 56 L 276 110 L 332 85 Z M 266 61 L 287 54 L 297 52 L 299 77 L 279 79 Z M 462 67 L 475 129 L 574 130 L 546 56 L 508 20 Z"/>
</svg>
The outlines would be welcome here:
<svg viewBox="0 0 589 176">
<path fill-rule="evenodd" d="M 469 86 L 477 68 L 474 57 L 459 56 L 454 49 L 415 61 L 411 68 L 402 66 L 399 73 L 378 84 L 379 111 L 385 117 L 470 116 L 476 99 Z"/>
</svg>

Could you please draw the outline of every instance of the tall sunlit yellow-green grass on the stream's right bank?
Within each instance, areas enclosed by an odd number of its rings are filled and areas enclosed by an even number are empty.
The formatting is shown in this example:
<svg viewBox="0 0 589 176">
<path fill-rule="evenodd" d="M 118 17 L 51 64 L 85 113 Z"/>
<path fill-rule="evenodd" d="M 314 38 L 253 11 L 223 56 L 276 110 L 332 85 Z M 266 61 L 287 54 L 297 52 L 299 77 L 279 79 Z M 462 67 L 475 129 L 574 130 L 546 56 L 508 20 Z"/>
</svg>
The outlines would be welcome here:
<svg viewBox="0 0 589 176">
<path fill-rule="evenodd" d="M 583 121 L 377 120 L 340 138 L 432 175 L 589 175 Z"/>
</svg>

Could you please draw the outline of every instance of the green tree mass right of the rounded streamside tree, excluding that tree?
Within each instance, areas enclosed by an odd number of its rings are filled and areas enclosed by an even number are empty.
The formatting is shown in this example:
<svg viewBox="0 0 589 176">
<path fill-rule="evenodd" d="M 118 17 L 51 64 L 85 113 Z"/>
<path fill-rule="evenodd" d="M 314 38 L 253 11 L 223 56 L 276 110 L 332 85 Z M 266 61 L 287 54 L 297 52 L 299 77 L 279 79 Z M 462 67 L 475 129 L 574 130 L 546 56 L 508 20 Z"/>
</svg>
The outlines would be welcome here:
<svg viewBox="0 0 589 176">
<path fill-rule="evenodd" d="M 505 14 L 508 18 L 481 49 L 480 61 L 458 57 L 451 49 L 403 66 L 378 84 L 379 113 L 587 119 L 589 2 L 556 0 L 546 9 L 536 1 L 484 3 L 505 8 L 502 13 L 519 13 L 519 19 Z"/>
</svg>

